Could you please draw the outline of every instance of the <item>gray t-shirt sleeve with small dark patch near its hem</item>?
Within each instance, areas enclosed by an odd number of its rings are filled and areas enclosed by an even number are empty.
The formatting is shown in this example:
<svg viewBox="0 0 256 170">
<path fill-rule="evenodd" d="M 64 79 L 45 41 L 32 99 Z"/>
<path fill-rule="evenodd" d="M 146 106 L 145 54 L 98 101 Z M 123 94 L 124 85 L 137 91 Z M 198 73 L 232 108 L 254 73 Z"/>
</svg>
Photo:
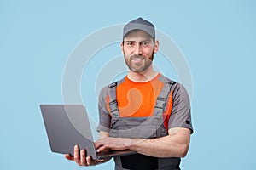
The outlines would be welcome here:
<svg viewBox="0 0 256 170">
<path fill-rule="evenodd" d="M 189 95 L 183 85 L 177 83 L 172 93 L 172 113 L 168 129 L 173 127 L 189 128 L 193 133 Z"/>
</svg>

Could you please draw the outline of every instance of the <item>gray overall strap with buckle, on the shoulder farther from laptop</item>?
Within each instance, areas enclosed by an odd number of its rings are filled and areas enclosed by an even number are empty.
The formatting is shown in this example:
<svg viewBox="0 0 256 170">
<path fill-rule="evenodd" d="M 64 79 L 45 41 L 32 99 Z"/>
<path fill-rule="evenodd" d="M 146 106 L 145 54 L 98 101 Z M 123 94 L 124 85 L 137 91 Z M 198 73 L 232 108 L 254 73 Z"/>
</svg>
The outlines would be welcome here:
<svg viewBox="0 0 256 170">
<path fill-rule="evenodd" d="M 172 91 L 173 85 L 176 83 L 163 76 L 160 77 L 160 80 L 165 84 L 159 96 L 156 99 L 156 102 L 154 105 L 154 116 L 162 116 L 162 114 L 166 111 L 166 104 L 167 104 L 169 94 Z"/>
</svg>

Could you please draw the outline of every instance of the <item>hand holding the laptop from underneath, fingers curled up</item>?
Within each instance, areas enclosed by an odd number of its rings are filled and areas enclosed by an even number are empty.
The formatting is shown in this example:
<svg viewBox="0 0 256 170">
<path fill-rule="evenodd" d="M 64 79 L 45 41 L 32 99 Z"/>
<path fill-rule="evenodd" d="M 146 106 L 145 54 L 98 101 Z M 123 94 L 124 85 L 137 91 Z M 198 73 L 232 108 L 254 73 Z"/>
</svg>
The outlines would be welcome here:
<svg viewBox="0 0 256 170">
<path fill-rule="evenodd" d="M 65 158 L 70 161 L 75 161 L 79 166 L 94 166 L 108 160 L 92 160 L 90 156 L 86 156 L 85 150 L 79 150 L 79 146 L 75 145 L 73 156 L 65 154 Z"/>
</svg>

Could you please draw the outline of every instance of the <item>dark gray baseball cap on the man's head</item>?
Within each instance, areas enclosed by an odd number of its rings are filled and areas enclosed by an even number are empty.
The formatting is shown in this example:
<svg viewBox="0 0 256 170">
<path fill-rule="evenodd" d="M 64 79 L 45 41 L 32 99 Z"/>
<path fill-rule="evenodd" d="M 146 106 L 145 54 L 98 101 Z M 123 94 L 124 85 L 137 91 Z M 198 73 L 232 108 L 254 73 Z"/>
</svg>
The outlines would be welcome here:
<svg viewBox="0 0 256 170">
<path fill-rule="evenodd" d="M 127 33 L 134 30 L 145 31 L 149 36 L 155 38 L 154 25 L 141 17 L 137 18 L 136 20 L 131 20 L 124 26 L 123 38 L 127 35 Z"/>
</svg>

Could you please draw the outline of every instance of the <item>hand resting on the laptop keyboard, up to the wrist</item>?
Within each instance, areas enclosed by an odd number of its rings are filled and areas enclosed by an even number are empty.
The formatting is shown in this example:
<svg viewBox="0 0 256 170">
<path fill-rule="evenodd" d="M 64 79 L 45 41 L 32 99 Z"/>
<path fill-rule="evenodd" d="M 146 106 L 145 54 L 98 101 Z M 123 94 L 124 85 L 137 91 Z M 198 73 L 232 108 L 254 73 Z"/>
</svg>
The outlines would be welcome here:
<svg viewBox="0 0 256 170">
<path fill-rule="evenodd" d="M 103 138 L 95 142 L 97 152 L 102 150 L 126 150 L 131 149 L 132 144 L 136 144 L 137 139 L 125 139 L 125 138 Z"/>
</svg>

